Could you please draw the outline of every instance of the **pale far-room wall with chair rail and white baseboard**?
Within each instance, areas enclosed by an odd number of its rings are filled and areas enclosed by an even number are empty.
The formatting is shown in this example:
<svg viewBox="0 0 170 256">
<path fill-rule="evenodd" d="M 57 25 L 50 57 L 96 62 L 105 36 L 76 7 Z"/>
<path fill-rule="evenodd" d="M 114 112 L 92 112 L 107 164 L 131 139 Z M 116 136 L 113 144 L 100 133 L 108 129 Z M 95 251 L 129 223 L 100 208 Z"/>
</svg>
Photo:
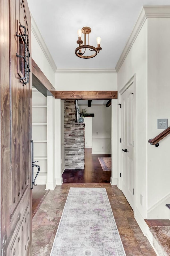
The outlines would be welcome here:
<svg viewBox="0 0 170 256">
<path fill-rule="evenodd" d="M 86 109 L 89 114 L 95 114 L 92 117 L 92 154 L 111 154 L 111 106 L 79 105 L 79 107 L 80 110 Z"/>
</svg>

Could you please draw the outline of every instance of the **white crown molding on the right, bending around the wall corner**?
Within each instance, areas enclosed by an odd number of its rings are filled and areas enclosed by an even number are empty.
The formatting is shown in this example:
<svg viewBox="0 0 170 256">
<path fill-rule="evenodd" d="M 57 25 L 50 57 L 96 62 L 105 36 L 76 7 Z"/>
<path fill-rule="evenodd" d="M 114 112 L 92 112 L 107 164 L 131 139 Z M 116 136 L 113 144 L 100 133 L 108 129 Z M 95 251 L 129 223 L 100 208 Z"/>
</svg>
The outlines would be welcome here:
<svg viewBox="0 0 170 256">
<path fill-rule="evenodd" d="M 143 6 L 126 46 L 116 64 L 118 72 L 147 18 L 170 18 L 170 5 Z"/>
</svg>

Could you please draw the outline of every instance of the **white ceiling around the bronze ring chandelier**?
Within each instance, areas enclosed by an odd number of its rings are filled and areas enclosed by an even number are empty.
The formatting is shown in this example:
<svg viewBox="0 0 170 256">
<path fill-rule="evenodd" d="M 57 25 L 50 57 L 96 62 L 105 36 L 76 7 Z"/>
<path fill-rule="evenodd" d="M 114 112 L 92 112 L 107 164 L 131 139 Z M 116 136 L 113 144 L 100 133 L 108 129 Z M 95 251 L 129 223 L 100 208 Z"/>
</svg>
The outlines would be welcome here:
<svg viewBox="0 0 170 256">
<path fill-rule="evenodd" d="M 29 9 L 58 69 L 114 69 L 143 5 L 170 0 L 28 0 Z M 95 58 L 75 55 L 78 29 L 91 27 L 90 45 L 102 50 Z"/>
</svg>

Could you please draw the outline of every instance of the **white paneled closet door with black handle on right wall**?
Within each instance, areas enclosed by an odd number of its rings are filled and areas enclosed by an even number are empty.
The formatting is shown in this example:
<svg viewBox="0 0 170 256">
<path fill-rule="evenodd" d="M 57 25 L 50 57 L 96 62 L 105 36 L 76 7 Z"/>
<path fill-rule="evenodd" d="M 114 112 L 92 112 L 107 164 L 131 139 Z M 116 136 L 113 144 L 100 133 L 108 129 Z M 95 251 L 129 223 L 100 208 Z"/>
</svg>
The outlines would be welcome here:
<svg viewBox="0 0 170 256">
<path fill-rule="evenodd" d="M 134 194 L 134 85 L 121 95 L 121 188 L 133 209 Z"/>
</svg>

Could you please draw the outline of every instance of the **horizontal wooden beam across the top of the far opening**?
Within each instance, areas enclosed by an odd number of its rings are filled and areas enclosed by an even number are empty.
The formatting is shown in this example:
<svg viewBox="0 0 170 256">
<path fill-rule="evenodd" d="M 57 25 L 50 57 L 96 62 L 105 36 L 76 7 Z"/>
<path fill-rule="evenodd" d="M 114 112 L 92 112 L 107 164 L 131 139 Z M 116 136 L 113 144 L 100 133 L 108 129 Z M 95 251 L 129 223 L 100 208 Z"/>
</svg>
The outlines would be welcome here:
<svg viewBox="0 0 170 256">
<path fill-rule="evenodd" d="M 117 91 L 56 91 L 55 98 L 64 100 L 109 100 L 117 99 Z"/>
</svg>

